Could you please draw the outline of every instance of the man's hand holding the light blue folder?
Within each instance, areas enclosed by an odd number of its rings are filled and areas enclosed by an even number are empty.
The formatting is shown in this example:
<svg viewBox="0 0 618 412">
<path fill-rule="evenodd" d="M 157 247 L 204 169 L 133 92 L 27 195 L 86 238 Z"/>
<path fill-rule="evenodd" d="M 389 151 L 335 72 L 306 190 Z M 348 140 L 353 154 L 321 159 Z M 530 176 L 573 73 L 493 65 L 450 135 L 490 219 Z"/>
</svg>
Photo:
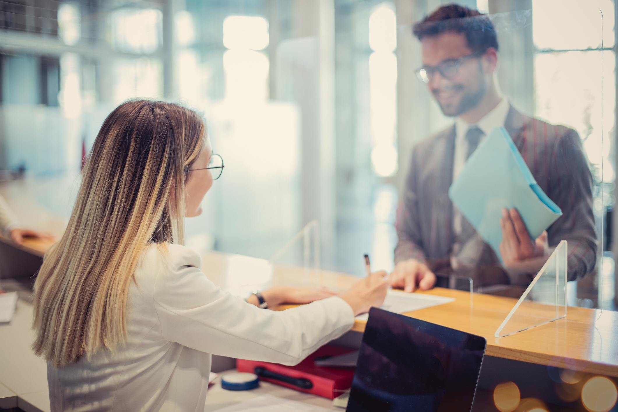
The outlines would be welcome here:
<svg viewBox="0 0 618 412">
<path fill-rule="evenodd" d="M 500 254 L 504 264 L 514 269 L 536 272 L 549 256 L 547 232 L 532 240 L 517 209 L 502 209 Z"/>
</svg>

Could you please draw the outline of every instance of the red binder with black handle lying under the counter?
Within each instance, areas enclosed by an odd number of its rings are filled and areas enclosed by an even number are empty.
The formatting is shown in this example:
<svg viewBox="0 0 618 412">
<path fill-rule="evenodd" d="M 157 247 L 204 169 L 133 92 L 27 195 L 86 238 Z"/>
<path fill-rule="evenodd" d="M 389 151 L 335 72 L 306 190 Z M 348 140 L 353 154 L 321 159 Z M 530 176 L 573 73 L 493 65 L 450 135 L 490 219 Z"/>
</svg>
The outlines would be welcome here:
<svg viewBox="0 0 618 412">
<path fill-rule="evenodd" d="M 354 368 L 326 368 L 315 366 L 313 361 L 315 358 L 343 355 L 353 350 L 324 345 L 296 366 L 236 359 L 236 369 L 239 372 L 255 373 L 266 382 L 333 399 L 350 389 Z"/>
</svg>

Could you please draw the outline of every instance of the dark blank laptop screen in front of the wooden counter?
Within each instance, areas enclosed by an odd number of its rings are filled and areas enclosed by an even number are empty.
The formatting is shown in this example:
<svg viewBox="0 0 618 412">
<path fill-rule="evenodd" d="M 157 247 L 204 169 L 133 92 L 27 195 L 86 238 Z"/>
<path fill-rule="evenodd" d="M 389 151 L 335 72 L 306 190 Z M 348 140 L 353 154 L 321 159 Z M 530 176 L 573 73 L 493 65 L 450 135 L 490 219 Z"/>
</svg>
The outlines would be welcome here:
<svg viewBox="0 0 618 412">
<path fill-rule="evenodd" d="M 371 308 L 348 412 L 472 409 L 483 337 Z"/>
</svg>

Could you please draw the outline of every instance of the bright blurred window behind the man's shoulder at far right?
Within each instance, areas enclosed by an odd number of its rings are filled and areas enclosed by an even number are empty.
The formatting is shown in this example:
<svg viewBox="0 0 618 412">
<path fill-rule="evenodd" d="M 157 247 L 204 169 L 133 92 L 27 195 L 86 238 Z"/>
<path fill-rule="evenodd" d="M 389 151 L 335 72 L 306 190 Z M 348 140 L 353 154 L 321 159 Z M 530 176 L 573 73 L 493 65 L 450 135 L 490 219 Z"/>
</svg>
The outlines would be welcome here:
<svg viewBox="0 0 618 412">
<path fill-rule="evenodd" d="M 533 0 L 532 4 L 533 38 L 539 49 L 536 115 L 575 128 L 596 182 L 614 182 L 610 150 L 616 108 L 614 4 L 611 0 Z M 604 206 L 610 199 L 606 197 Z"/>
</svg>

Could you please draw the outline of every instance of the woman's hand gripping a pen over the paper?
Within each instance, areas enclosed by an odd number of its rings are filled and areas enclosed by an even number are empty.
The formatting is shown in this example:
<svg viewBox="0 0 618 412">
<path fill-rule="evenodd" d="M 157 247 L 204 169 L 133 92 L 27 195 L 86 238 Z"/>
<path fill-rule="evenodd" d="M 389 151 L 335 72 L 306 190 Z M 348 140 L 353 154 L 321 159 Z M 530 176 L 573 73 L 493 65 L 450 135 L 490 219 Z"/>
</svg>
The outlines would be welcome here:
<svg viewBox="0 0 618 412">
<path fill-rule="evenodd" d="M 365 279 L 358 280 L 350 290 L 339 295 L 352 308 L 354 316 L 368 312 L 371 306 L 382 306 L 389 284 L 384 280 L 386 272 L 373 272 Z"/>
</svg>

